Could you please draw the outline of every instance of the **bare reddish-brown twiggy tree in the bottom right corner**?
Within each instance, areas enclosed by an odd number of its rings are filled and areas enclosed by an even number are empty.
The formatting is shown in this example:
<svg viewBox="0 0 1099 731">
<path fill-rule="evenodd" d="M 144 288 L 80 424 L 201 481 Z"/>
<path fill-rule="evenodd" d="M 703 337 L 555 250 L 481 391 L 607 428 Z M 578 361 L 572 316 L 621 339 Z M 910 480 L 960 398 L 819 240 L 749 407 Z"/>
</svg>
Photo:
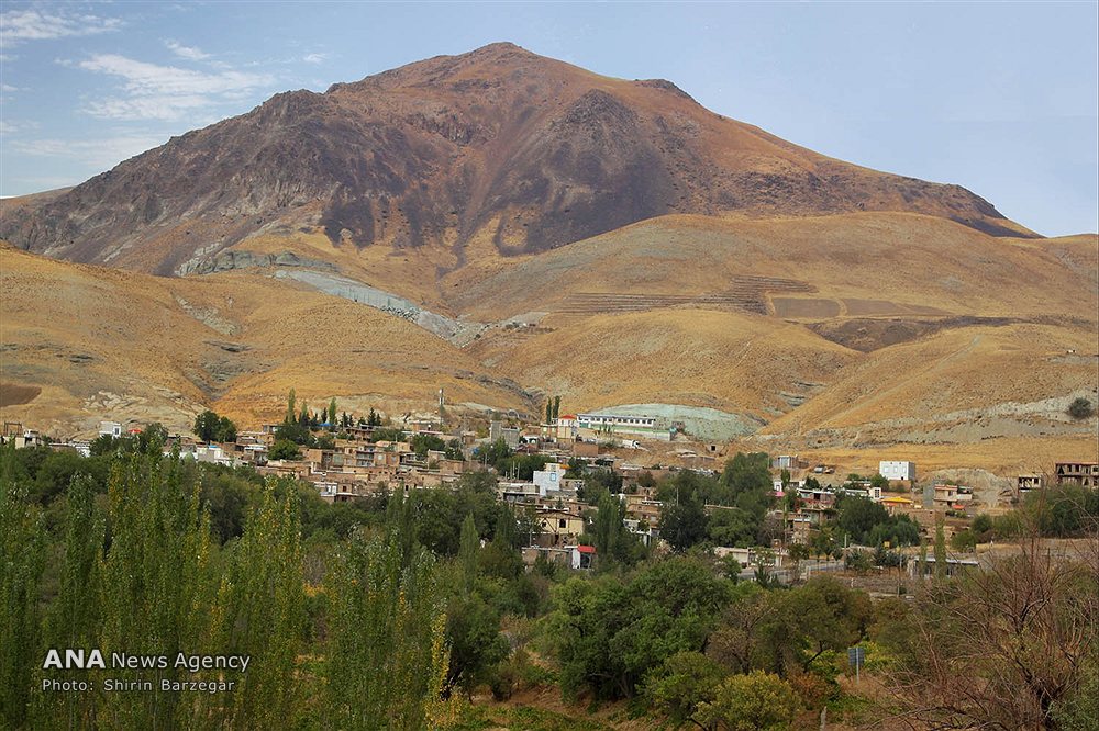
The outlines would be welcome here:
<svg viewBox="0 0 1099 731">
<path fill-rule="evenodd" d="M 1058 728 L 1099 646 L 1099 539 L 1077 550 L 1053 555 L 1032 537 L 921 593 L 912 631 L 891 648 L 889 685 L 906 715 L 940 729 Z"/>
</svg>

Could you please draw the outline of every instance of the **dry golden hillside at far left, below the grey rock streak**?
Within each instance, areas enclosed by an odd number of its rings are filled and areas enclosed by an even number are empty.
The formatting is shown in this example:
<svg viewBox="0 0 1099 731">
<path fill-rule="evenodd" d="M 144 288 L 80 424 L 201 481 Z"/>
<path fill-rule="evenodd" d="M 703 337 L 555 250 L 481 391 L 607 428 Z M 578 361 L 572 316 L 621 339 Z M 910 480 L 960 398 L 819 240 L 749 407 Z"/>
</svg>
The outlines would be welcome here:
<svg viewBox="0 0 1099 731">
<path fill-rule="evenodd" d="M 271 280 L 165 279 L 0 248 L 2 418 L 55 434 L 100 419 L 187 429 L 214 406 L 246 425 L 286 393 L 391 413 L 448 400 L 523 407 L 513 384 L 398 317 Z"/>
</svg>

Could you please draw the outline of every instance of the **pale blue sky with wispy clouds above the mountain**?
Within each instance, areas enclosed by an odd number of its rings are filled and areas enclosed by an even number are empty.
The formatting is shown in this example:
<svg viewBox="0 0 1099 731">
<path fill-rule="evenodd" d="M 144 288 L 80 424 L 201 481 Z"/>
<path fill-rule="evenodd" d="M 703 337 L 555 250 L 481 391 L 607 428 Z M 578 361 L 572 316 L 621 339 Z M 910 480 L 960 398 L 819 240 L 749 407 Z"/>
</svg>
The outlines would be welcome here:
<svg viewBox="0 0 1099 731">
<path fill-rule="evenodd" d="M 511 41 L 1042 234 L 1099 230 L 1099 4 L 11 2 L 0 194 L 80 182 L 287 89 Z"/>
</svg>

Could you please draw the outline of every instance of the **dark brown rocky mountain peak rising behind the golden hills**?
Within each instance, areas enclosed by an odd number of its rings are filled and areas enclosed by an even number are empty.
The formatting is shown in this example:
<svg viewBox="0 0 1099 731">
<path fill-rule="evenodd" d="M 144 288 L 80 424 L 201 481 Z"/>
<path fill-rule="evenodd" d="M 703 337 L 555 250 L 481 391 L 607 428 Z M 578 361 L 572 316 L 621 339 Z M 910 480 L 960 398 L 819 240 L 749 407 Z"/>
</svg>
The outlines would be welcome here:
<svg viewBox="0 0 1099 731">
<path fill-rule="evenodd" d="M 292 91 L 175 137 L 37 205 L 0 238 L 158 274 L 215 266 L 249 238 L 323 232 L 337 248 L 471 241 L 545 251 L 669 213 L 904 211 L 1031 235 L 957 185 L 831 159 L 707 111 L 673 83 L 625 81 L 508 43 Z"/>
</svg>

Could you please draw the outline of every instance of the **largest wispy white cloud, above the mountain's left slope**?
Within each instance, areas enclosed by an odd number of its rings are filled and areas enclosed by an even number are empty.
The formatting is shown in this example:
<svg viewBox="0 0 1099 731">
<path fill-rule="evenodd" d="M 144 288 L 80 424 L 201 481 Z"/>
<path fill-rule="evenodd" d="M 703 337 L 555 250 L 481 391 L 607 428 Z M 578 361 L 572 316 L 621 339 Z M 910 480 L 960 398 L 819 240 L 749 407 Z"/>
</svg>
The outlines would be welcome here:
<svg viewBox="0 0 1099 731">
<path fill-rule="evenodd" d="M 196 71 L 116 54 L 96 55 L 77 66 L 123 79 L 125 97 L 97 100 L 85 106 L 92 116 L 112 120 L 178 120 L 203 106 L 247 98 L 273 83 L 266 74 Z"/>
</svg>

